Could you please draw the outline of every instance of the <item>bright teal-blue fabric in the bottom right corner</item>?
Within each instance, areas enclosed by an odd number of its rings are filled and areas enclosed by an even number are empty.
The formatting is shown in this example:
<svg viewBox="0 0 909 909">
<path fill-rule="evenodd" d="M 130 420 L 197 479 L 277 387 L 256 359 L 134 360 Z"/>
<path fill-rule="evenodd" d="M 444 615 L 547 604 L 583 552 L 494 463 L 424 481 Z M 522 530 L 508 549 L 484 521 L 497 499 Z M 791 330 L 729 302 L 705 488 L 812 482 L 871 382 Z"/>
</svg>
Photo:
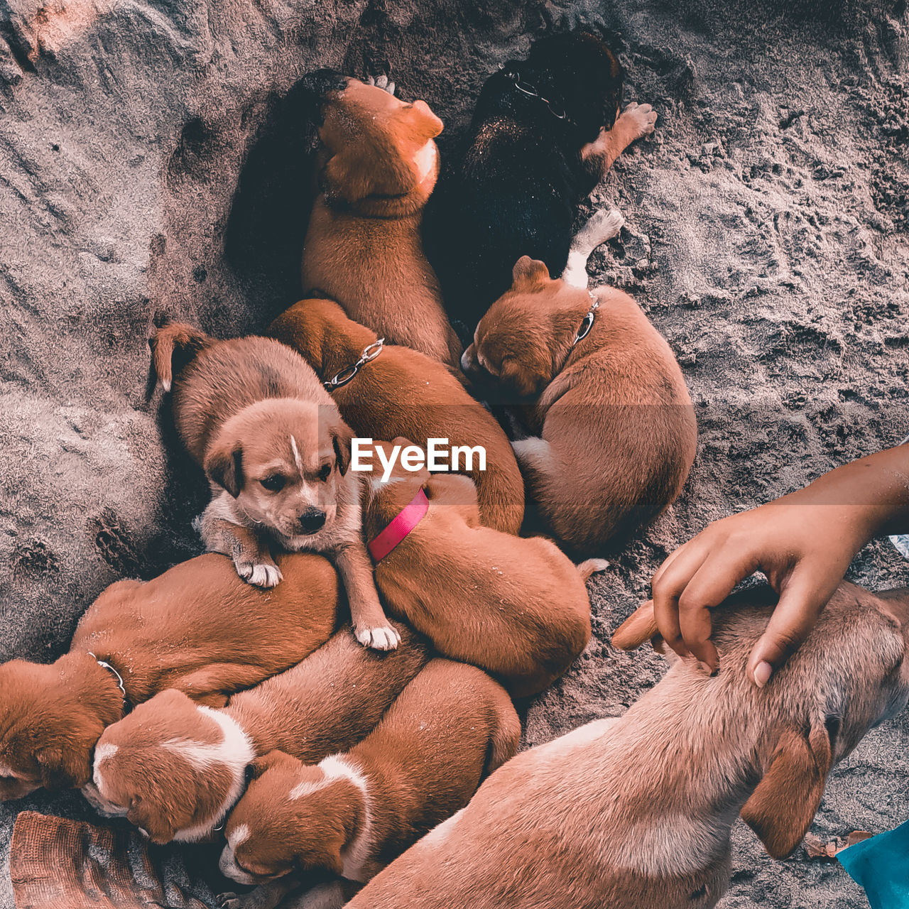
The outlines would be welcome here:
<svg viewBox="0 0 909 909">
<path fill-rule="evenodd" d="M 871 909 L 909 909 L 909 821 L 838 854 Z"/>
</svg>

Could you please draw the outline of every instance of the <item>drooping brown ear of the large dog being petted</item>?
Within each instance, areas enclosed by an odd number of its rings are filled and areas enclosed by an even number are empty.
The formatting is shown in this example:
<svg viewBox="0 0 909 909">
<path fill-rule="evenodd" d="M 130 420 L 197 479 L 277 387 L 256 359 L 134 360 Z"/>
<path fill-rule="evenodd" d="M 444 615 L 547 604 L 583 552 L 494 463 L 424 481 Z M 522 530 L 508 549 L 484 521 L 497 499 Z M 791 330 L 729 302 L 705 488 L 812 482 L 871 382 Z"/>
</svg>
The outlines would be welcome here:
<svg viewBox="0 0 909 909">
<path fill-rule="evenodd" d="M 834 764 L 838 729 L 836 717 L 812 724 L 808 734 L 784 729 L 764 779 L 744 804 L 742 819 L 774 858 L 790 854 L 814 820 Z"/>
</svg>

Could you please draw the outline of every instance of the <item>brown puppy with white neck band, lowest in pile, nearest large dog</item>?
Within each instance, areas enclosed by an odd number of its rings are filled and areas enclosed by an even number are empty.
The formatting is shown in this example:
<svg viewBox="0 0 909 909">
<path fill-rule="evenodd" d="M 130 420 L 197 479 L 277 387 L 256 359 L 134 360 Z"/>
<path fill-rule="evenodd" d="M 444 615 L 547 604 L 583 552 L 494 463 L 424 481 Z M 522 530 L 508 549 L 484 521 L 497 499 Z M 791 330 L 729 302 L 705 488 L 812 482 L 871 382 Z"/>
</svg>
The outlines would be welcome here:
<svg viewBox="0 0 909 909">
<path fill-rule="evenodd" d="M 313 871 L 365 884 L 463 808 L 484 775 L 514 756 L 520 738 L 501 685 L 474 666 L 432 660 L 347 754 L 317 766 L 280 752 L 256 761 L 225 827 L 221 871 L 240 884 L 283 878 L 285 893 Z M 273 909 L 272 894 L 267 902 L 256 893 L 223 894 L 219 902 Z M 344 903 L 340 883 L 318 895 L 324 909 Z"/>
</svg>

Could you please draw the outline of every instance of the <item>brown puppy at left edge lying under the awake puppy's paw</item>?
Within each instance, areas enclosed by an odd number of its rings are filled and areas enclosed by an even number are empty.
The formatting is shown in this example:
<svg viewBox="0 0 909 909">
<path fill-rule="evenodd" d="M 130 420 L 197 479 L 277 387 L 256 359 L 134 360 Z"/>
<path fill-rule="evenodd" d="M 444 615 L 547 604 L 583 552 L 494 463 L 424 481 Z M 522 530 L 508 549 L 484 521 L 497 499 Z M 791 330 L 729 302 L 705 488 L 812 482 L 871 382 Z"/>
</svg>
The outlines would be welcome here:
<svg viewBox="0 0 909 909">
<path fill-rule="evenodd" d="M 223 555 L 152 581 L 117 581 L 88 607 L 69 653 L 0 665 L 0 799 L 85 785 L 106 725 L 165 688 L 200 704 L 283 672 L 335 630 L 338 580 L 318 555 L 278 557 L 288 584 L 244 584 Z"/>
</svg>

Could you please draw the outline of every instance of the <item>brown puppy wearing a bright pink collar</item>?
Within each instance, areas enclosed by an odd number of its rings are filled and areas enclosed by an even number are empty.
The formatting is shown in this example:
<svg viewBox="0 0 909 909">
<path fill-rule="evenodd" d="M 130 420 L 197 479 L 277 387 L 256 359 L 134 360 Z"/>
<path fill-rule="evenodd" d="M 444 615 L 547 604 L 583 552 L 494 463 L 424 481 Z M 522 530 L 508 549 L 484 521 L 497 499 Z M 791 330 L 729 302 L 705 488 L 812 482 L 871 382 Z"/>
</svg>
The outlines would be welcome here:
<svg viewBox="0 0 909 909">
<path fill-rule="evenodd" d="M 584 580 L 605 563 L 578 568 L 543 537 L 484 527 L 469 477 L 411 473 L 402 460 L 388 483 L 371 481 L 364 506 L 375 539 L 420 490 L 428 500 L 425 517 L 375 566 L 388 610 L 440 654 L 480 666 L 514 696 L 543 691 L 590 640 Z"/>
</svg>

